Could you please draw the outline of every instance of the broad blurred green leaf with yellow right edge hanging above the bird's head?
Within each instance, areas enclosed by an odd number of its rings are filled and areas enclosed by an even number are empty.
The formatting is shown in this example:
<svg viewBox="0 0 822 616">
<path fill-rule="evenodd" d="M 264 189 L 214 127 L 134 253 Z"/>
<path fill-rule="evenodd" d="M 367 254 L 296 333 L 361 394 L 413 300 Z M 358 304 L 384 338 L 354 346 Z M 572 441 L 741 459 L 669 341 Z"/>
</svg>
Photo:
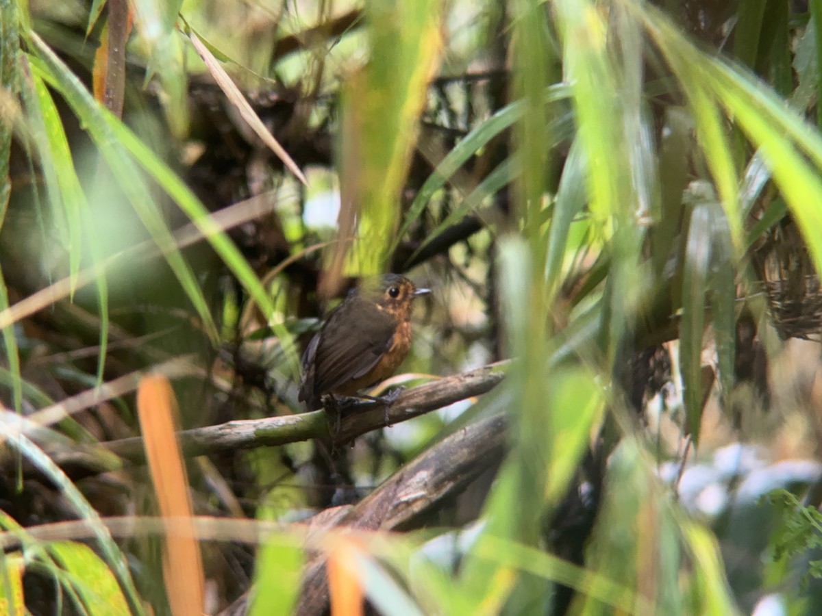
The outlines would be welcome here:
<svg viewBox="0 0 822 616">
<path fill-rule="evenodd" d="M 370 59 L 344 88 L 344 123 L 348 133 L 343 208 L 360 214 L 361 241 L 355 242 L 363 274 L 383 271 L 395 237 L 400 189 L 408 172 L 416 124 L 426 86 L 439 60 L 441 3 L 436 0 L 369 0 Z M 346 169 L 344 167 L 344 169 Z M 347 184 L 346 184 L 347 183 Z M 346 188 L 348 186 L 348 188 Z M 345 250 L 341 246 L 339 250 Z"/>
</svg>

